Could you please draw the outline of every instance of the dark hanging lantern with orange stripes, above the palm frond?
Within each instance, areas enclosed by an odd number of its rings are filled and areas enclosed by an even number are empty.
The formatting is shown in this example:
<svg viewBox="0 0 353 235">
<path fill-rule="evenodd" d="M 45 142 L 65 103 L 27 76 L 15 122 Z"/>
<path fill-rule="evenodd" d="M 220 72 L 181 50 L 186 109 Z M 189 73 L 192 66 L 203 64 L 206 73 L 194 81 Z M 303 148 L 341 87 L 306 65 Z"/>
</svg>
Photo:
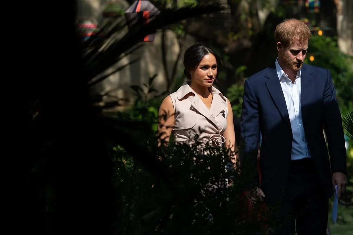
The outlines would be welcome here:
<svg viewBox="0 0 353 235">
<path fill-rule="evenodd" d="M 127 22 L 127 27 L 131 30 L 136 24 L 143 22 L 148 24 L 153 20 L 160 11 L 150 2 L 150 1 L 135 1 L 127 10 L 125 11 L 125 19 Z M 143 42 L 153 42 L 155 40 L 155 34 L 149 34 L 145 36 L 141 41 Z"/>
</svg>

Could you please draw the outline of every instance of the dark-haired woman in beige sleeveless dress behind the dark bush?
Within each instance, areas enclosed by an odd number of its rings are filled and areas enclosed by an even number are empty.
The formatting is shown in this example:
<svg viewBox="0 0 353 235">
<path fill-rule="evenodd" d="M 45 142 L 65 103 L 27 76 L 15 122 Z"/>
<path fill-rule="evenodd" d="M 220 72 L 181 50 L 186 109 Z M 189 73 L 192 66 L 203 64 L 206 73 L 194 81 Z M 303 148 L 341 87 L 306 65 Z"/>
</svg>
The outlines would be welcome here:
<svg viewBox="0 0 353 235">
<path fill-rule="evenodd" d="M 186 50 L 184 74 L 189 82 L 167 96 L 159 109 L 158 132 L 164 144 L 173 131 L 176 143 L 225 144 L 233 155 L 238 151 L 231 103 L 213 86 L 219 66 L 217 55 L 203 44 Z"/>
</svg>

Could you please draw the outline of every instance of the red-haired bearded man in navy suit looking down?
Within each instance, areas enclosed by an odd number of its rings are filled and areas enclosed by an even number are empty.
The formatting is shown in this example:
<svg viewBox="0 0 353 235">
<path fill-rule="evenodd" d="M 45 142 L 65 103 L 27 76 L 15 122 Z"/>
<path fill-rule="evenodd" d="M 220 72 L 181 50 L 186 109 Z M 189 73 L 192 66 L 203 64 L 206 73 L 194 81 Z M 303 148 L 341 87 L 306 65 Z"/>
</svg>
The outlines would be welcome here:
<svg viewBox="0 0 353 235">
<path fill-rule="evenodd" d="M 241 168 L 250 201 L 264 198 L 277 234 L 325 234 L 328 199 L 347 184 L 346 149 L 330 72 L 303 64 L 309 28 L 287 19 L 275 30 L 278 57 L 246 80 L 241 113 Z M 324 126 L 328 150 L 322 132 Z M 259 135 L 261 186 L 256 173 Z M 278 213 L 277 213 L 278 212 Z"/>
</svg>

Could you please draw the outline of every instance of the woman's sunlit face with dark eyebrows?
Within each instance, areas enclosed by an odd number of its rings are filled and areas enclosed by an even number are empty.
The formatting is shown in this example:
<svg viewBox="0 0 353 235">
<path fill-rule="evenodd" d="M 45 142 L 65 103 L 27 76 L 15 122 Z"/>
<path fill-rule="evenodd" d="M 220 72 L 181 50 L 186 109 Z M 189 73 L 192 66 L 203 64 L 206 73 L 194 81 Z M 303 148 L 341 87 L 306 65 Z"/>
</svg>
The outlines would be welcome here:
<svg viewBox="0 0 353 235">
<path fill-rule="evenodd" d="M 213 54 L 205 55 L 191 73 L 191 82 L 202 86 L 212 86 L 217 75 L 217 61 Z"/>
</svg>

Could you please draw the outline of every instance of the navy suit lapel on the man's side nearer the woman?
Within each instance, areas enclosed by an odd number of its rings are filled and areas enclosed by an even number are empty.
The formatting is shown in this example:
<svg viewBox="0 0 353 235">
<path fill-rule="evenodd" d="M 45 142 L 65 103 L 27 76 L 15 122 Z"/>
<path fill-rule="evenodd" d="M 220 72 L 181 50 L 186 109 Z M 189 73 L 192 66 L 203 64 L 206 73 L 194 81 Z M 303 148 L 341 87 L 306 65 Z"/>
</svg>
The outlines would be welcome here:
<svg viewBox="0 0 353 235">
<path fill-rule="evenodd" d="M 268 91 L 272 97 L 275 106 L 280 112 L 283 120 L 287 123 L 289 128 L 291 128 L 291 121 L 289 120 L 289 114 L 287 109 L 287 104 L 285 100 L 285 96 L 283 95 L 282 87 L 280 84 L 280 80 L 278 78 L 276 68 L 269 68 L 269 73 L 266 76 L 268 80 L 265 82 Z"/>
</svg>

